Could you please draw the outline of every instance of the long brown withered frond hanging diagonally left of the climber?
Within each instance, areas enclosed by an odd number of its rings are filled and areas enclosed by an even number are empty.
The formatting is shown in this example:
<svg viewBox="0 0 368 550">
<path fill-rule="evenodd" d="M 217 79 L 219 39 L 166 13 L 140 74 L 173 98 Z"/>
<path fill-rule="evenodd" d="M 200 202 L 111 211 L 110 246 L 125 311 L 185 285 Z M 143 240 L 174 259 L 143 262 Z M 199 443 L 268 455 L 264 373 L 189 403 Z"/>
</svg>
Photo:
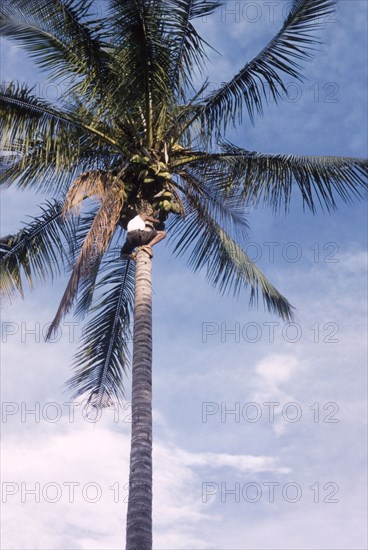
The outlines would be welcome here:
<svg viewBox="0 0 368 550">
<path fill-rule="evenodd" d="M 108 190 L 102 198 L 101 207 L 83 242 L 82 249 L 73 268 L 55 318 L 50 325 L 46 339 L 51 337 L 52 333 L 59 326 L 62 317 L 70 311 L 81 278 L 87 277 L 96 264 L 101 261 L 115 232 L 122 205 L 122 198 L 116 195 L 114 190 Z"/>
</svg>

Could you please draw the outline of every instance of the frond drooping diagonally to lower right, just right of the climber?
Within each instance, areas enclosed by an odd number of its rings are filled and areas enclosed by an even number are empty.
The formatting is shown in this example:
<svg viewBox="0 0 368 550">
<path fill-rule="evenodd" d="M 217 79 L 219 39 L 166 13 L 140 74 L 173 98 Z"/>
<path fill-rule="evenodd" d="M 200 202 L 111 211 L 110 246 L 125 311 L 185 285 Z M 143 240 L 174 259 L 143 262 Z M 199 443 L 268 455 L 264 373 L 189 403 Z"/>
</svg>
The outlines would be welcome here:
<svg viewBox="0 0 368 550">
<path fill-rule="evenodd" d="M 294 318 L 293 307 L 288 300 L 269 282 L 262 271 L 245 254 L 241 247 L 212 219 L 203 205 L 187 197 L 185 222 L 179 218 L 171 222 L 169 242 L 176 243 L 174 253 L 183 255 L 189 249 L 188 266 L 199 272 L 206 268 L 206 280 L 221 293 L 238 295 L 243 288 L 250 287 L 249 305 L 258 304 L 262 294 L 265 307 L 283 320 Z"/>
</svg>

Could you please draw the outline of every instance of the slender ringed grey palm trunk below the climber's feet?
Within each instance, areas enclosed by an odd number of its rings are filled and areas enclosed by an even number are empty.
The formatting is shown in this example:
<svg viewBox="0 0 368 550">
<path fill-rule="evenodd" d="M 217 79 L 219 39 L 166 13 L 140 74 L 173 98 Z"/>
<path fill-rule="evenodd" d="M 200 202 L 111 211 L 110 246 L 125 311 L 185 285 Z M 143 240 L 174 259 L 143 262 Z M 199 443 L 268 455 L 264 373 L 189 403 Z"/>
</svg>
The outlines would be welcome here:
<svg viewBox="0 0 368 550">
<path fill-rule="evenodd" d="M 136 257 L 126 550 L 152 549 L 152 260 Z"/>
</svg>

